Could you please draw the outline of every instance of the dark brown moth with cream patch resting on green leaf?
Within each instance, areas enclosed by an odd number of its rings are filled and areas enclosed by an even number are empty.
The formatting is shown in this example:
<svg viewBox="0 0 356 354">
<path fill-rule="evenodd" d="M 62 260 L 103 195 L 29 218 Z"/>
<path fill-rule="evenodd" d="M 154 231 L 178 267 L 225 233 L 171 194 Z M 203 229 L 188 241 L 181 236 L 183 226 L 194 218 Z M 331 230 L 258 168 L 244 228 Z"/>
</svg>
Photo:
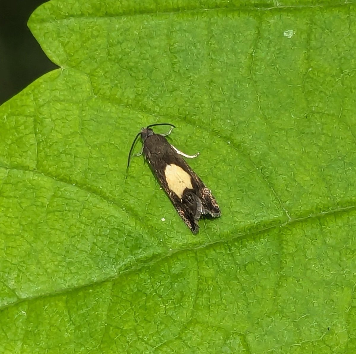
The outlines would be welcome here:
<svg viewBox="0 0 356 354">
<path fill-rule="evenodd" d="M 156 134 L 151 128 L 167 125 L 171 129 L 167 134 Z M 196 155 L 186 155 L 171 145 L 166 136 L 171 134 L 175 126 L 169 123 L 151 124 L 139 132 L 130 148 L 127 168 L 137 138 L 141 136 L 142 151 L 136 156 L 144 155 L 153 174 L 169 199 L 176 208 L 179 216 L 189 229 L 196 234 L 199 231 L 198 221 L 202 216 L 219 217 L 221 211 L 218 203 L 199 176 L 189 167 L 182 156 L 194 158 Z"/>
</svg>

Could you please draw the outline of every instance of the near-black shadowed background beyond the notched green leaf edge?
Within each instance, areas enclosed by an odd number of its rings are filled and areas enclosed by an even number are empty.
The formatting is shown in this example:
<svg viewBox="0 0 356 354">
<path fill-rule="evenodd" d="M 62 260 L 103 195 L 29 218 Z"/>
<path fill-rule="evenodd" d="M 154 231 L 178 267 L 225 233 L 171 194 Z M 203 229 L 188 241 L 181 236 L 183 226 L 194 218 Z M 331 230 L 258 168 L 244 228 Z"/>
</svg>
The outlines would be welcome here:
<svg viewBox="0 0 356 354">
<path fill-rule="evenodd" d="M 32 36 L 27 21 L 46 0 L 0 0 L 0 105 L 56 69 Z"/>
</svg>

